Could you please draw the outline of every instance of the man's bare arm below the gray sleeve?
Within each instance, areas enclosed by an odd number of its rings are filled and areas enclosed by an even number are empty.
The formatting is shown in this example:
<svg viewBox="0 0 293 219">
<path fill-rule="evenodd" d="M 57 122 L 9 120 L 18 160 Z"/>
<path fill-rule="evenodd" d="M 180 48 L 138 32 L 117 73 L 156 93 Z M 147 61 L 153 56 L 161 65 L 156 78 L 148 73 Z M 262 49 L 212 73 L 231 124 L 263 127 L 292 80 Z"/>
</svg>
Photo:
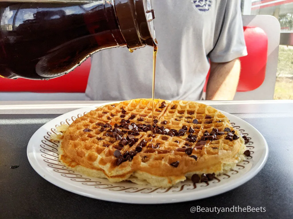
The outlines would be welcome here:
<svg viewBox="0 0 293 219">
<path fill-rule="evenodd" d="M 230 62 L 211 62 L 206 100 L 233 100 L 240 75 L 238 58 Z"/>
</svg>

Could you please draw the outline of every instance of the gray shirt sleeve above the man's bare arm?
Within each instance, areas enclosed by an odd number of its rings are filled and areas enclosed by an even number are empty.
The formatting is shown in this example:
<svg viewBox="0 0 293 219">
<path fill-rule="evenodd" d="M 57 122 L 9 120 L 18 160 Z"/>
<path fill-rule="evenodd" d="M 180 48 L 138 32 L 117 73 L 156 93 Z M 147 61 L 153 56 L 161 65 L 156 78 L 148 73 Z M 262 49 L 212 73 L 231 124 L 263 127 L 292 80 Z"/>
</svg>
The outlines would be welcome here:
<svg viewBox="0 0 293 219">
<path fill-rule="evenodd" d="M 212 62 L 229 62 L 245 55 L 247 55 L 247 50 L 240 1 L 228 0 L 219 38 L 208 57 Z"/>
</svg>

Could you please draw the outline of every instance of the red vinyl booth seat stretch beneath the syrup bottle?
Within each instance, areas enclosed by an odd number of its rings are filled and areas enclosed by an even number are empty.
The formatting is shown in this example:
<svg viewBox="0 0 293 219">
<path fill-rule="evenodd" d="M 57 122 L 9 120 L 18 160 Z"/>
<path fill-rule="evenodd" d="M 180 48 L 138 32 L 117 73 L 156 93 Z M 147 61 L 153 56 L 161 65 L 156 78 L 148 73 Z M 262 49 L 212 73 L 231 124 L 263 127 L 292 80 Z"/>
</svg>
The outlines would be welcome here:
<svg viewBox="0 0 293 219">
<path fill-rule="evenodd" d="M 91 69 L 91 59 L 62 77 L 44 80 L 0 78 L 0 92 L 84 93 Z"/>
</svg>

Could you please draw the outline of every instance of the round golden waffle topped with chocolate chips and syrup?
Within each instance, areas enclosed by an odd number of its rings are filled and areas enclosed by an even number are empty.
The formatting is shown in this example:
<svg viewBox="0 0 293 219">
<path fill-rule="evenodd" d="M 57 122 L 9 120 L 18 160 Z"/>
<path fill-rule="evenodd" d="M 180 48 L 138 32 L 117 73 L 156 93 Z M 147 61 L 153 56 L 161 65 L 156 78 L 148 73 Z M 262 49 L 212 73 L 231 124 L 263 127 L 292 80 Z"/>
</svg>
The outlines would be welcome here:
<svg viewBox="0 0 293 219">
<path fill-rule="evenodd" d="M 156 99 L 152 131 L 151 112 L 151 99 L 92 110 L 64 132 L 61 162 L 110 182 L 168 187 L 186 178 L 205 181 L 244 159 L 243 138 L 213 107 Z"/>
</svg>

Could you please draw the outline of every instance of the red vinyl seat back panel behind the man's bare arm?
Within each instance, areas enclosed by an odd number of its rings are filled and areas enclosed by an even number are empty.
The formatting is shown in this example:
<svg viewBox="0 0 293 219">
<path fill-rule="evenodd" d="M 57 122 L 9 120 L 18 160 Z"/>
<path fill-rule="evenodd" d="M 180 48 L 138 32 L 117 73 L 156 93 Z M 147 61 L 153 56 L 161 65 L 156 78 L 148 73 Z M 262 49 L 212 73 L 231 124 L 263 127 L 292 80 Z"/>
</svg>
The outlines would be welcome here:
<svg viewBox="0 0 293 219">
<path fill-rule="evenodd" d="M 237 91 L 252 91 L 265 80 L 268 36 L 260 27 L 243 27 L 248 55 L 240 59 L 241 72 Z M 209 73 L 207 79 L 209 78 Z M 206 91 L 207 80 L 204 91 Z"/>
</svg>

